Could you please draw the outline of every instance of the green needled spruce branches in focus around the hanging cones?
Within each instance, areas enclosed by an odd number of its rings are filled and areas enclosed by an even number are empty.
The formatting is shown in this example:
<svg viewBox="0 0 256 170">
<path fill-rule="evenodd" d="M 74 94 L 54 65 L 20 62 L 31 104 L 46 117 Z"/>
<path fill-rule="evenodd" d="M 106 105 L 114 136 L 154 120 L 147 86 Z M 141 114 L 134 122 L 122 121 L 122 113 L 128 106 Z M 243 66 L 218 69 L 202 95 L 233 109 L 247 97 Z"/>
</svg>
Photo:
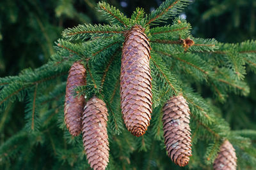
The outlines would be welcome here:
<svg viewBox="0 0 256 170">
<path fill-rule="evenodd" d="M 193 156 L 188 167 L 211 167 L 226 139 L 237 150 L 239 162 L 248 162 L 238 164 L 241 169 L 255 166 L 252 139 L 256 131 L 231 131 L 214 101 L 225 103 L 230 93 L 249 94 L 244 77 L 246 67 L 256 70 L 256 41 L 225 44 L 215 39 L 194 38 L 191 25 L 179 17 L 170 25 L 159 25 L 175 17 L 188 4 L 188 0 L 168 0 L 149 15 L 137 8 L 127 18 L 115 7 L 99 3 L 97 8 L 106 15 L 109 25 L 83 24 L 66 29 L 63 39 L 56 43 L 57 52 L 47 64 L 34 70 L 24 69 L 17 76 L 0 78 L 1 112 L 12 107 L 17 99 L 26 101 L 26 125 L 0 146 L 1 167 L 90 167 L 84 157 L 82 136 L 71 136 L 64 122 L 67 74 L 77 60 L 83 63 L 87 76 L 86 85 L 74 89 L 74 97 L 84 96 L 89 101 L 97 96 L 108 108 L 108 169 L 177 168 L 164 149 L 162 118 L 164 104 L 170 97 L 179 95 L 190 109 Z M 122 45 L 134 25 L 140 25 L 152 48 L 149 60 L 152 120 L 141 137 L 132 136 L 125 129 L 119 90 Z M 201 97 L 202 94 L 193 90 L 197 84 L 211 89 L 213 96 Z"/>
</svg>

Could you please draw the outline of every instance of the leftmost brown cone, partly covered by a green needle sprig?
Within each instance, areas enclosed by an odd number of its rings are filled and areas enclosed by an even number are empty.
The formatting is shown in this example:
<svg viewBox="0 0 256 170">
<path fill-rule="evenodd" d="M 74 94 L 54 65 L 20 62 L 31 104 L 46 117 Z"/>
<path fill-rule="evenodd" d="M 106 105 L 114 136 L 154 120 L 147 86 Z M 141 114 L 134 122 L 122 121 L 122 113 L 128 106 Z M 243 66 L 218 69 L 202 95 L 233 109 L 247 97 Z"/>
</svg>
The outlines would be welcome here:
<svg viewBox="0 0 256 170">
<path fill-rule="evenodd" d="M 81 85 L 86 85 L 86 69 L 80 62 L 74 62 L 68 73 L 64 108 L 65 124 L 72 136 L 81 132 L 84 96 L 72 96 L 73 89 Z"/>
</svg>

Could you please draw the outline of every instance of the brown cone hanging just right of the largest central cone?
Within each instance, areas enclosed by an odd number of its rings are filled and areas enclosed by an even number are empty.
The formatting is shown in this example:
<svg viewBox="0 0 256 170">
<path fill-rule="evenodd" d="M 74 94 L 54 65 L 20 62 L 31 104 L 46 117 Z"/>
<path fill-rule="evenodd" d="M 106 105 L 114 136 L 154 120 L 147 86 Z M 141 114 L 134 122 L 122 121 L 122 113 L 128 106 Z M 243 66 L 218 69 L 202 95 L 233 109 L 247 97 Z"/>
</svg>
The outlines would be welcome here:
<svg viewBox="0 0 256 170">
<path fill-rule="evenodd" d="M 189 107 L 183 96 L 172 97 L 163 107 L 164 143 L 172 161 L 183 167 L 191 154 Z"/>
</svg>

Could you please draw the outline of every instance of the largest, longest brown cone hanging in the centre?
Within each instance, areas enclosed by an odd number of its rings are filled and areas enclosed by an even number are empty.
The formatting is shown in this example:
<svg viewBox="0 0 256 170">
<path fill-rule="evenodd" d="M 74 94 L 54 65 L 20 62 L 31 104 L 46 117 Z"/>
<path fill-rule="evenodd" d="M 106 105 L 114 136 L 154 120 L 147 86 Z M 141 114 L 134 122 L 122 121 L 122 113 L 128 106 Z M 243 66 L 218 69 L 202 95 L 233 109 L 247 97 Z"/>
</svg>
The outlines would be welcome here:
<svg viewBox="0 0 256 170">
<path fill-rule="evenodd" d="M 124 123 L 134 136 L 147 131 L 152 113 L 150 45 L 140 25 L 125 34 L 120 76 Z"/>
</svg>

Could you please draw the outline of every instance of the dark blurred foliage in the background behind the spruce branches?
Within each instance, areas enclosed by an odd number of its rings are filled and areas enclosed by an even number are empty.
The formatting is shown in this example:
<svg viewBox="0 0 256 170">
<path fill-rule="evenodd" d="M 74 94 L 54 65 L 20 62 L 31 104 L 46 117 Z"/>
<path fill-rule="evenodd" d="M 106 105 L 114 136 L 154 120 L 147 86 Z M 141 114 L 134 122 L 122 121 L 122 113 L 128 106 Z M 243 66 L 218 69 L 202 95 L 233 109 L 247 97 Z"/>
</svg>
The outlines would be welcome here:
<svg viewBox="0 0 256 170">
<path fill-rule="evenodd" d="M 96 0 L 6 0 L 0 1 L 0 76 L 19 74 L 20 70 L 42 66 L 54 53 L 54 41 L 61 31 L 77 24 L 105 23 L 95 10 Z M 109 0 L 128 17 L 137 6 L 146 13 L 162 3 L 160 0 Z M 255 0 L 196 0 L 181 17 L 193 27 L 192 34 L 201 38 L 216 38 L 220 42 L 239 43 L 256 39 Z M 220 114 L 233 130 L 256 129 L 256 76 L 247 72 L 250 95 L 230 94 L 226 103 L 216 102 Z M 212 96 L 202 85 L 195 89 L 203 97 Z M 13 107 L 15 106 L 15 107 Z M 0 119 L 0 144 L 24 126 L 24 103 L 15 103 Z M 4 128 L 8 127 L 8 128 Z M 168 157 L 166 157 L 168 159 Z M 170 161 L 170 160 L 169 160 Z"/>
</svg>

